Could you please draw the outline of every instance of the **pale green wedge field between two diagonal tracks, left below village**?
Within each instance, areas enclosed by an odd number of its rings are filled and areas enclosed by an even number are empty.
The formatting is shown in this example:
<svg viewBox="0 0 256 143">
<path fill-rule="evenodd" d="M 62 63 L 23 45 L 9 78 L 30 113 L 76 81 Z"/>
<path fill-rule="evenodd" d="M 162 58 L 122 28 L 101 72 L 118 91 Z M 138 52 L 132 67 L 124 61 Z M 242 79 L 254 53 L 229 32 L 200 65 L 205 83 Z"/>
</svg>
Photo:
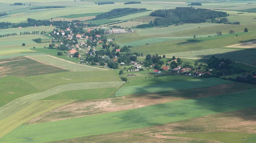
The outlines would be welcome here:
<svg viewBox="0 0 256 143">
<path fill-rule="evenodd" d="M 96 71 L 104 70 L 100 68 L 95 68 L 92 66 L 85 66 L 78 63 L 73 63 L 67 60 L 62 60 L 53 56 L 29 56 L 29 58 L 35 59 L 36 61 L 47 63 L 52 66 L 60 67 L 70 71 Z"/>
</svg>

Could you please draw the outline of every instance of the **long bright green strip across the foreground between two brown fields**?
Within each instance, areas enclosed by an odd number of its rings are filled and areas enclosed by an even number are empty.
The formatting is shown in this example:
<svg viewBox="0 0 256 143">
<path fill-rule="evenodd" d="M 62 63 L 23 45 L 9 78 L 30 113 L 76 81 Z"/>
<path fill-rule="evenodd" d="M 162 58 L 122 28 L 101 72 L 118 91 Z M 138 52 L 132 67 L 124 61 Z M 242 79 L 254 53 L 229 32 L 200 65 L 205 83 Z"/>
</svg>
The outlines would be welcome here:
<svg viewBox="0 0 256 143">
<path fill-rule="evenodd" d="M 10 140 L 13 143 L 41 143 L 72 137 L 137 129 L 210 114 L 252 108 L 256 106 L 256 97 L 252 94 L 254 92 L 255 90 L 252 89 L 215 97 L 157 104 L 121 112 L 23 125 L 6 134 L 0 141 L 3 143 L 9 142 Z M 202 103 L 204 106 L 198 106 L 198 103 Z"/>
</svg>

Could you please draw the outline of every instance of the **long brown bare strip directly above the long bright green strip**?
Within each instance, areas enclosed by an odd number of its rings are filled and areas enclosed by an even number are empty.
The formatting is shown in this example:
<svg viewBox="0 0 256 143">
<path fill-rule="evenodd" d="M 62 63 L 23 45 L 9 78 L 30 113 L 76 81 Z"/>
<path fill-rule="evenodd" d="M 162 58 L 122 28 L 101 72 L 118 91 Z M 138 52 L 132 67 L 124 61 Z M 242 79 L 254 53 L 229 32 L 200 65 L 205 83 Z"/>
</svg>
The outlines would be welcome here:
<svg viewBox="0 0 256 143">
<path fill-rule="evenodd" d="M 167 92 L 134 94 L 100 100 L 77 101 L 42 114 L 41 116 L 28 121 L 26 124 L 51 122 L 94 114 L 117 112 L 176 100 L 218 96 L 244 91 L 248 88 L 256 88 L 256 86 L 242 83 L 228 83 L 200 89 L 184 89 Z"/>
</svg>

